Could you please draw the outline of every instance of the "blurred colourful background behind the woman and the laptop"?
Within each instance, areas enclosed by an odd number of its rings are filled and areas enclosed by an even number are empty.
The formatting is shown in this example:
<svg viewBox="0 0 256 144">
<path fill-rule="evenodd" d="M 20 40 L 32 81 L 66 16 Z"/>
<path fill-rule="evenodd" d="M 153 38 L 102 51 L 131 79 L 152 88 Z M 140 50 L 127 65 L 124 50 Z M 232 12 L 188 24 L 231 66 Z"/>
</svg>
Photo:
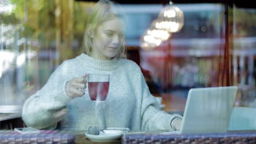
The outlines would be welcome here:
<svg viewBox="0 0 256 144">
<path fill-rule="evenodd" d="M 80 55 L 95 2 L 0 1 L 0 108 L 22 105 L 63 61 Z M 162 98 L 163 110 L 183 112 L 190 88 L 233 85 L 239 88 L 236 106 L 256 107 L 255 5 L 249 1 L 117 2 L 126 14 L 127 58 L 141 67 L 150 92 Z M 164 40 L 145 37 L 168 6 L 181 10 L 178 31 L 162 34 L 167 34 Z"/>
</svg>

